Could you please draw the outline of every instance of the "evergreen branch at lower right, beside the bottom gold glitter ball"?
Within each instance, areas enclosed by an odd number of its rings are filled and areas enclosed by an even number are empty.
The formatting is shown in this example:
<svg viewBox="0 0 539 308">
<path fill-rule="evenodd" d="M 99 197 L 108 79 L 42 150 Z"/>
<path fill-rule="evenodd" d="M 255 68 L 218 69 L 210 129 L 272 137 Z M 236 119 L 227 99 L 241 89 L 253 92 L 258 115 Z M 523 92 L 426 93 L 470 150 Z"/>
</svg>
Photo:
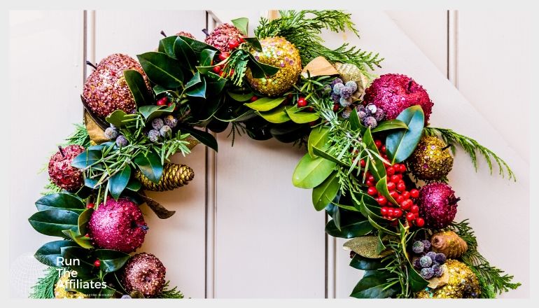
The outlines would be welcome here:
<svg viewBox="0 0 539 308">
<path fill-rule="evenodd" d="M 501 294 L 521 286 L 521 283 L 511 282 L 514 278 L 513 275 L 504 274 L 502 269 L 492 266 L 477 251 L 477 238 L 470 223 L 468 223 L 468 219 L 460 223 L 451 223 L 449 230 L 456 232 L 468 244 L 468 250 L 461 256 L 461 259 L 477 275 L 479 286 L 481 286 L 481 297 L 493 298 L 496 297 L 496 293 Z"/>
</svg>

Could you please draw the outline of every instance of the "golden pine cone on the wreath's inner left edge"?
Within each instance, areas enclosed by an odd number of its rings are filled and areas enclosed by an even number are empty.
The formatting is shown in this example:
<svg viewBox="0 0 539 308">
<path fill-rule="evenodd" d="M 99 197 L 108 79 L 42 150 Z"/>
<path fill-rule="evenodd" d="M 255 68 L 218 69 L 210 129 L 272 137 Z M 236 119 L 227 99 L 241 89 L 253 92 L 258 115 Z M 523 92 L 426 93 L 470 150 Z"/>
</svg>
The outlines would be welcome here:
<svg viewBox="0 0 539 308">
<path fill-rule="evenodd" d="M 174 188 L 187 185 L 194 177 L 195 172 L 187 165 L 168 162 L 163 166 L 163 175 L 157 184 L 150 181 L 140 170 L 137 170 L 137 173 L 135 173 L 135 178 L 142 183 L 142 187 L 152 191 L 173 190 Z"/>
</svg>

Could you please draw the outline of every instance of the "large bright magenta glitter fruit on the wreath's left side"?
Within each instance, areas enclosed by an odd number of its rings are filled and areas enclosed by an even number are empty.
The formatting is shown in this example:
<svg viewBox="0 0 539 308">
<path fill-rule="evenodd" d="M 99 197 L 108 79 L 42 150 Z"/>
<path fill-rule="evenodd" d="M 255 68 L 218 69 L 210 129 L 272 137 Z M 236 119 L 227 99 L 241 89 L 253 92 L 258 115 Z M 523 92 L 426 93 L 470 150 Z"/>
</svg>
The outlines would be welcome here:
<svg viewBox="0 0 539 308">
<path fill-rule="evenodd" d="M 95 246 L 125 253 L 142 246 L 147 229 L 137 204 L 122 198 L 99 204 L 88 223 L 88 234 Z"/>
</svg>

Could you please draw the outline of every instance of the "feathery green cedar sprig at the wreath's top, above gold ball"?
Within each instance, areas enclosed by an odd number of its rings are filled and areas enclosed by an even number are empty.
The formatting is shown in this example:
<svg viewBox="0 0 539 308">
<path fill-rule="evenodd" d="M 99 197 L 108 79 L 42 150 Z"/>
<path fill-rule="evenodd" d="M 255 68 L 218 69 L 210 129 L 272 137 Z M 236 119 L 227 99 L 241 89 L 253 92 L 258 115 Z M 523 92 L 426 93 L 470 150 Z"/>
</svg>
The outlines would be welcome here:
<svg viewBox="0 0 539 308">
<path fill-rule="evenodd" d="M 255 29 L 255 36 L 283 36 L 299 50 L 302 64 L 309 63 L 318 56 L 325 57 L 330 62 L 349 63 L 358 66 L 366 76 L 372 77 L 367 71 L 374 66 L 381 67 L 384 60 L 378 53 L 360 50 L 356 46 L 344 43 L 336 49 L 325 47 L 320 36 L 323 29 L 342 32 L 347 29 L 359 37 L 351 14 L 341 10 L 279 10 L 280 18 L 275 20 L 260 19 L 260 25 Z"/>
</svg>

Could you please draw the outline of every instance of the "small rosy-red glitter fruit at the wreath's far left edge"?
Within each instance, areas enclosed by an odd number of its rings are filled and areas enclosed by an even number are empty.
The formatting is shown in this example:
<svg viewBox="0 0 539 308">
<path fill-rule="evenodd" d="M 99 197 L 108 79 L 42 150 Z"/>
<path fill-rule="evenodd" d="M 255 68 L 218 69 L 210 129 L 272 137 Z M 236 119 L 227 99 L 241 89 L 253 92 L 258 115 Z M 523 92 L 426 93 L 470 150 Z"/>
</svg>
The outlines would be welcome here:
<svg viewBox="0 0 539 308">
<path fill-rule="evenodd" d="M 84 183 L 83 173 L 79 169 L 71 167 L 71 162 L 73 158 L 83 152 L 83 146 L 72 144 L 61 148 L 55 155 L 52 155 L 48 166 L 50 181 L 65 190 L 73 191 L 81 188 Z"/>
</svg>

